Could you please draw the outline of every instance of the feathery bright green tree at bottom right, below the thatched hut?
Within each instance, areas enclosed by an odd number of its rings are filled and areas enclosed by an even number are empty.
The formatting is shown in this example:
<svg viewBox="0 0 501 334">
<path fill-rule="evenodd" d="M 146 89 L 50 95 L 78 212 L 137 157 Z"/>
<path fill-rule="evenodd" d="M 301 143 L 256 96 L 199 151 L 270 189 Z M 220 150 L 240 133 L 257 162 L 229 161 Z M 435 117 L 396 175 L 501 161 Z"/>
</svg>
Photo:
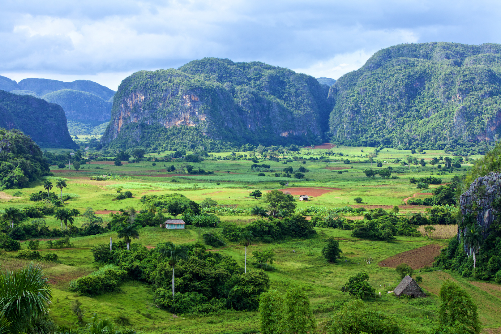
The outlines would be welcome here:
<svg viewBox="0 0 501 334">
<path fill-rule="evenodd" d="M 476 305 L 459 285 L 447 279 L 440 288 L 438 319 L 441 327 L 460 329 L 457 332 L 478 334 L 480 321 Z"/>
</svg>

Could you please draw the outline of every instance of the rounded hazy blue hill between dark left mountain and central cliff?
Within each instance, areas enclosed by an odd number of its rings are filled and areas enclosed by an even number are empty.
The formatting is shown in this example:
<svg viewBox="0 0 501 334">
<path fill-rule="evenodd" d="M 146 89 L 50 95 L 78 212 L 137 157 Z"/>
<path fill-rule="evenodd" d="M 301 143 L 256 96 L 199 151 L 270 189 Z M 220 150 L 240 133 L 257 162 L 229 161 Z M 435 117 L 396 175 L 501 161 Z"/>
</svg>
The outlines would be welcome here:
<svg viewBox="0 0 501 334">
<path fill-rule="evenodd" d="M 100 97 L 72 89 L 62 89 L 42 97 L 47 102 L 63 107 L 68 121 L 74 121 L 93 126 L 110 121 L 111 102 Z"/>
</svg>

